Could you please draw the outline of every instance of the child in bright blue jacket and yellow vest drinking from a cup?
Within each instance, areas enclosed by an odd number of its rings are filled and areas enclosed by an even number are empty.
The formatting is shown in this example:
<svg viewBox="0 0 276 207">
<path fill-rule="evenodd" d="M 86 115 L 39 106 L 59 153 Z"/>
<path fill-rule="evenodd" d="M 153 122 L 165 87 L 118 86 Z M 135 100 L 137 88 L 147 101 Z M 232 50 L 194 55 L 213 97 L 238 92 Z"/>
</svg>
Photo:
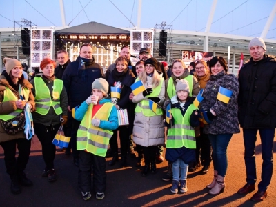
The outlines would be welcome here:
<svg viewBox="0 0 276 207">
<path fill-rule="evenodd" d="M 80 150 L 78 184 L 84 200 L 91 197 L 91 173 L 96 199 L 103 199 L 106 190 L 106 151 L 112 130 L 118 128 L 117 109 L 107 94 L 108 82 L 95 79 L 92 95 L 72 110 L 73 117 L 81 121 L 77 131 L 77 150 Z"/>
</svg>

